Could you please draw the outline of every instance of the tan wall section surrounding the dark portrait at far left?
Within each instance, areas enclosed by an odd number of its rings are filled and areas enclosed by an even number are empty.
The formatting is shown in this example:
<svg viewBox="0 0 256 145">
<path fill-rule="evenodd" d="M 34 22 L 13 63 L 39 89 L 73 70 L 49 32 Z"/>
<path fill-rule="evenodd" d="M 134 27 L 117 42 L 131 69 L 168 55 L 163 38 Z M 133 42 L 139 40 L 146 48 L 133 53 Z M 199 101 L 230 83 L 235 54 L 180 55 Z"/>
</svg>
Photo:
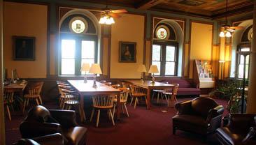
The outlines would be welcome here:
<svg viewBox="0 0 256 145">
<path fill-rule="evenodd" d="M 46 77 L 47 15 L 47 6 L 3 2 L 3 62 L 8 77 L 14 68 L 22 78 Z M 13 61 L 12 36 L 36 37 L 35 61 Z"/>
</svg>

